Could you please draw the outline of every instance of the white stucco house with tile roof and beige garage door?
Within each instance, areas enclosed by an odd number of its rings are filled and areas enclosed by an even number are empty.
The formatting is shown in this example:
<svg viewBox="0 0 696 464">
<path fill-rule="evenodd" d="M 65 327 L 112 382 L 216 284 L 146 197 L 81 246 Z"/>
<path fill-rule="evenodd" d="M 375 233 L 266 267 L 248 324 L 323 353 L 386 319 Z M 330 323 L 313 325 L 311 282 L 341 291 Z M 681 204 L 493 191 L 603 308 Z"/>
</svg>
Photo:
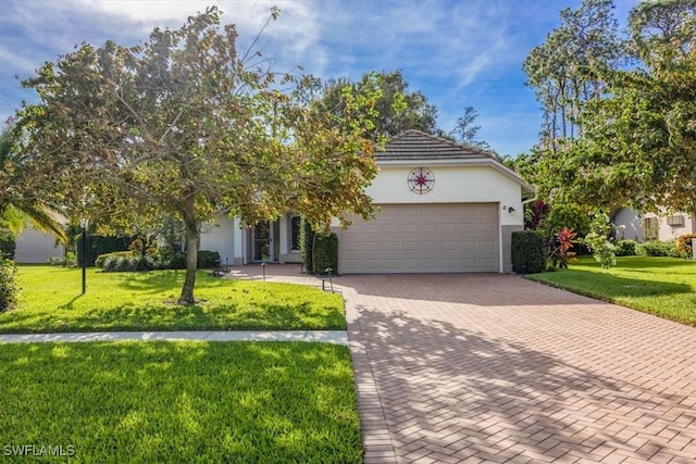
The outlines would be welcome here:
<svg viewBox="0 0 696 464">
<path fill-rule="evenodd" d="M 523 229 L 532 186 L 489 153 L 418 130 L 375 158 L 366 192 L 381 211 L 334 227 L 341 273 L 510 272 L 511 235 Z M 291 213 L 249 228 L 221 217 L 203 230 L 201 249 L 219 251 L 223 264 L 299 263 L 299 229 Z"/>
</svg>

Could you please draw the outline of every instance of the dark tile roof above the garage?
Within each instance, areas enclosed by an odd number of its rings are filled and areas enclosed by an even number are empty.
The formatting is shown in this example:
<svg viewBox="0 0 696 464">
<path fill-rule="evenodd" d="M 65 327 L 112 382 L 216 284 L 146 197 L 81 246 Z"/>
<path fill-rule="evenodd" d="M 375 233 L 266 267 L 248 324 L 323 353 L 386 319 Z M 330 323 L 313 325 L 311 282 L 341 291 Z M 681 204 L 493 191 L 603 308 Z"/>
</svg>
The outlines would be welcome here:
<svg viewBox="0 0 696 464">
<path fill-rule="evenodd" d="M 376 151 L 375 156 L 377 160 L 495 159 L 485 151 L 462 147 L 453 141 L 420 130 L 403 130 L 394 136 L 386 143 L 385 150 Z"/>
</svg>

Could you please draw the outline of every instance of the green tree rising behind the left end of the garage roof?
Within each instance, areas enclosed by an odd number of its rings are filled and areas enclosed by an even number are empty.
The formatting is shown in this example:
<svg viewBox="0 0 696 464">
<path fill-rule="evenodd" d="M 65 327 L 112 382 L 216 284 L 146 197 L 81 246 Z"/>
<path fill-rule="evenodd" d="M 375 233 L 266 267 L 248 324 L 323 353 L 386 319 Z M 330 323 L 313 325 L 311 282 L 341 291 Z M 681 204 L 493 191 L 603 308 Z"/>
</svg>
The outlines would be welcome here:
<svg viewBox="0 0 696 464">
<path fill-rule="evenodd" d="M 417 129 L 426 134 L 437 131 L 437 109 L 427 101 L 421 91 L 410 91 L 409 84 L 403 79 L 400 71 L 390 73 L 366 73 L 357 83 L 346 78 L 330 79 L 321 90 L 318 109 L 328 114 L 341 114 L 345 102 L 341 93 L 346 86 L 358 90 L 375 80 L 380 90 L 380 98 L 374 110 L 378 117 L 374 122 L 372 137 L 393 137 L 402 130 Z"/>
</svg>

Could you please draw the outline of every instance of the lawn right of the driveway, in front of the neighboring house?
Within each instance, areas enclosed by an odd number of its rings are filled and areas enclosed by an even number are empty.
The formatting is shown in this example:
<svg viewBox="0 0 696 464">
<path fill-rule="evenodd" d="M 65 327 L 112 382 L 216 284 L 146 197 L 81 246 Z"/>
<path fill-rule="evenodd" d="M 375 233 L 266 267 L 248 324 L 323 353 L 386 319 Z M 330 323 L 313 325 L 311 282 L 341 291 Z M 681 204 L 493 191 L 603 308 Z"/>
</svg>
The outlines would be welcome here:
<svg viewBox="0 0 696 464">
<path fill-rule="evenodd" d="M 581 258 L 570 268 L 532 274 L 531 280 L 696 326 L 696 262 L 674 258 L 624 256 L 602 269 Z"/>
</svg>

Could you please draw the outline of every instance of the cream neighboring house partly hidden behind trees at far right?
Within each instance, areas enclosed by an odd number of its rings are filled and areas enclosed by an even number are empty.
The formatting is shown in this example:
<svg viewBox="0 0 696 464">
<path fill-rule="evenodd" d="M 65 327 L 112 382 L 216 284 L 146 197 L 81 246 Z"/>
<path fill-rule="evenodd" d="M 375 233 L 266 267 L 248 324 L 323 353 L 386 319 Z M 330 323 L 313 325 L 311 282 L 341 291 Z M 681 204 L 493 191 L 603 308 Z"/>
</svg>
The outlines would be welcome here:
<svg viewBox="0 0 696 464">
<path fill-rule="evenodd" d="M 617 239 L 619 240 L 673 240 L 681 235 L 696 234 L 695 214 L 641 214 L 629 208 L 620 208 L 612 211 L 610 218 L 618 226 Z"/>
</svg>

